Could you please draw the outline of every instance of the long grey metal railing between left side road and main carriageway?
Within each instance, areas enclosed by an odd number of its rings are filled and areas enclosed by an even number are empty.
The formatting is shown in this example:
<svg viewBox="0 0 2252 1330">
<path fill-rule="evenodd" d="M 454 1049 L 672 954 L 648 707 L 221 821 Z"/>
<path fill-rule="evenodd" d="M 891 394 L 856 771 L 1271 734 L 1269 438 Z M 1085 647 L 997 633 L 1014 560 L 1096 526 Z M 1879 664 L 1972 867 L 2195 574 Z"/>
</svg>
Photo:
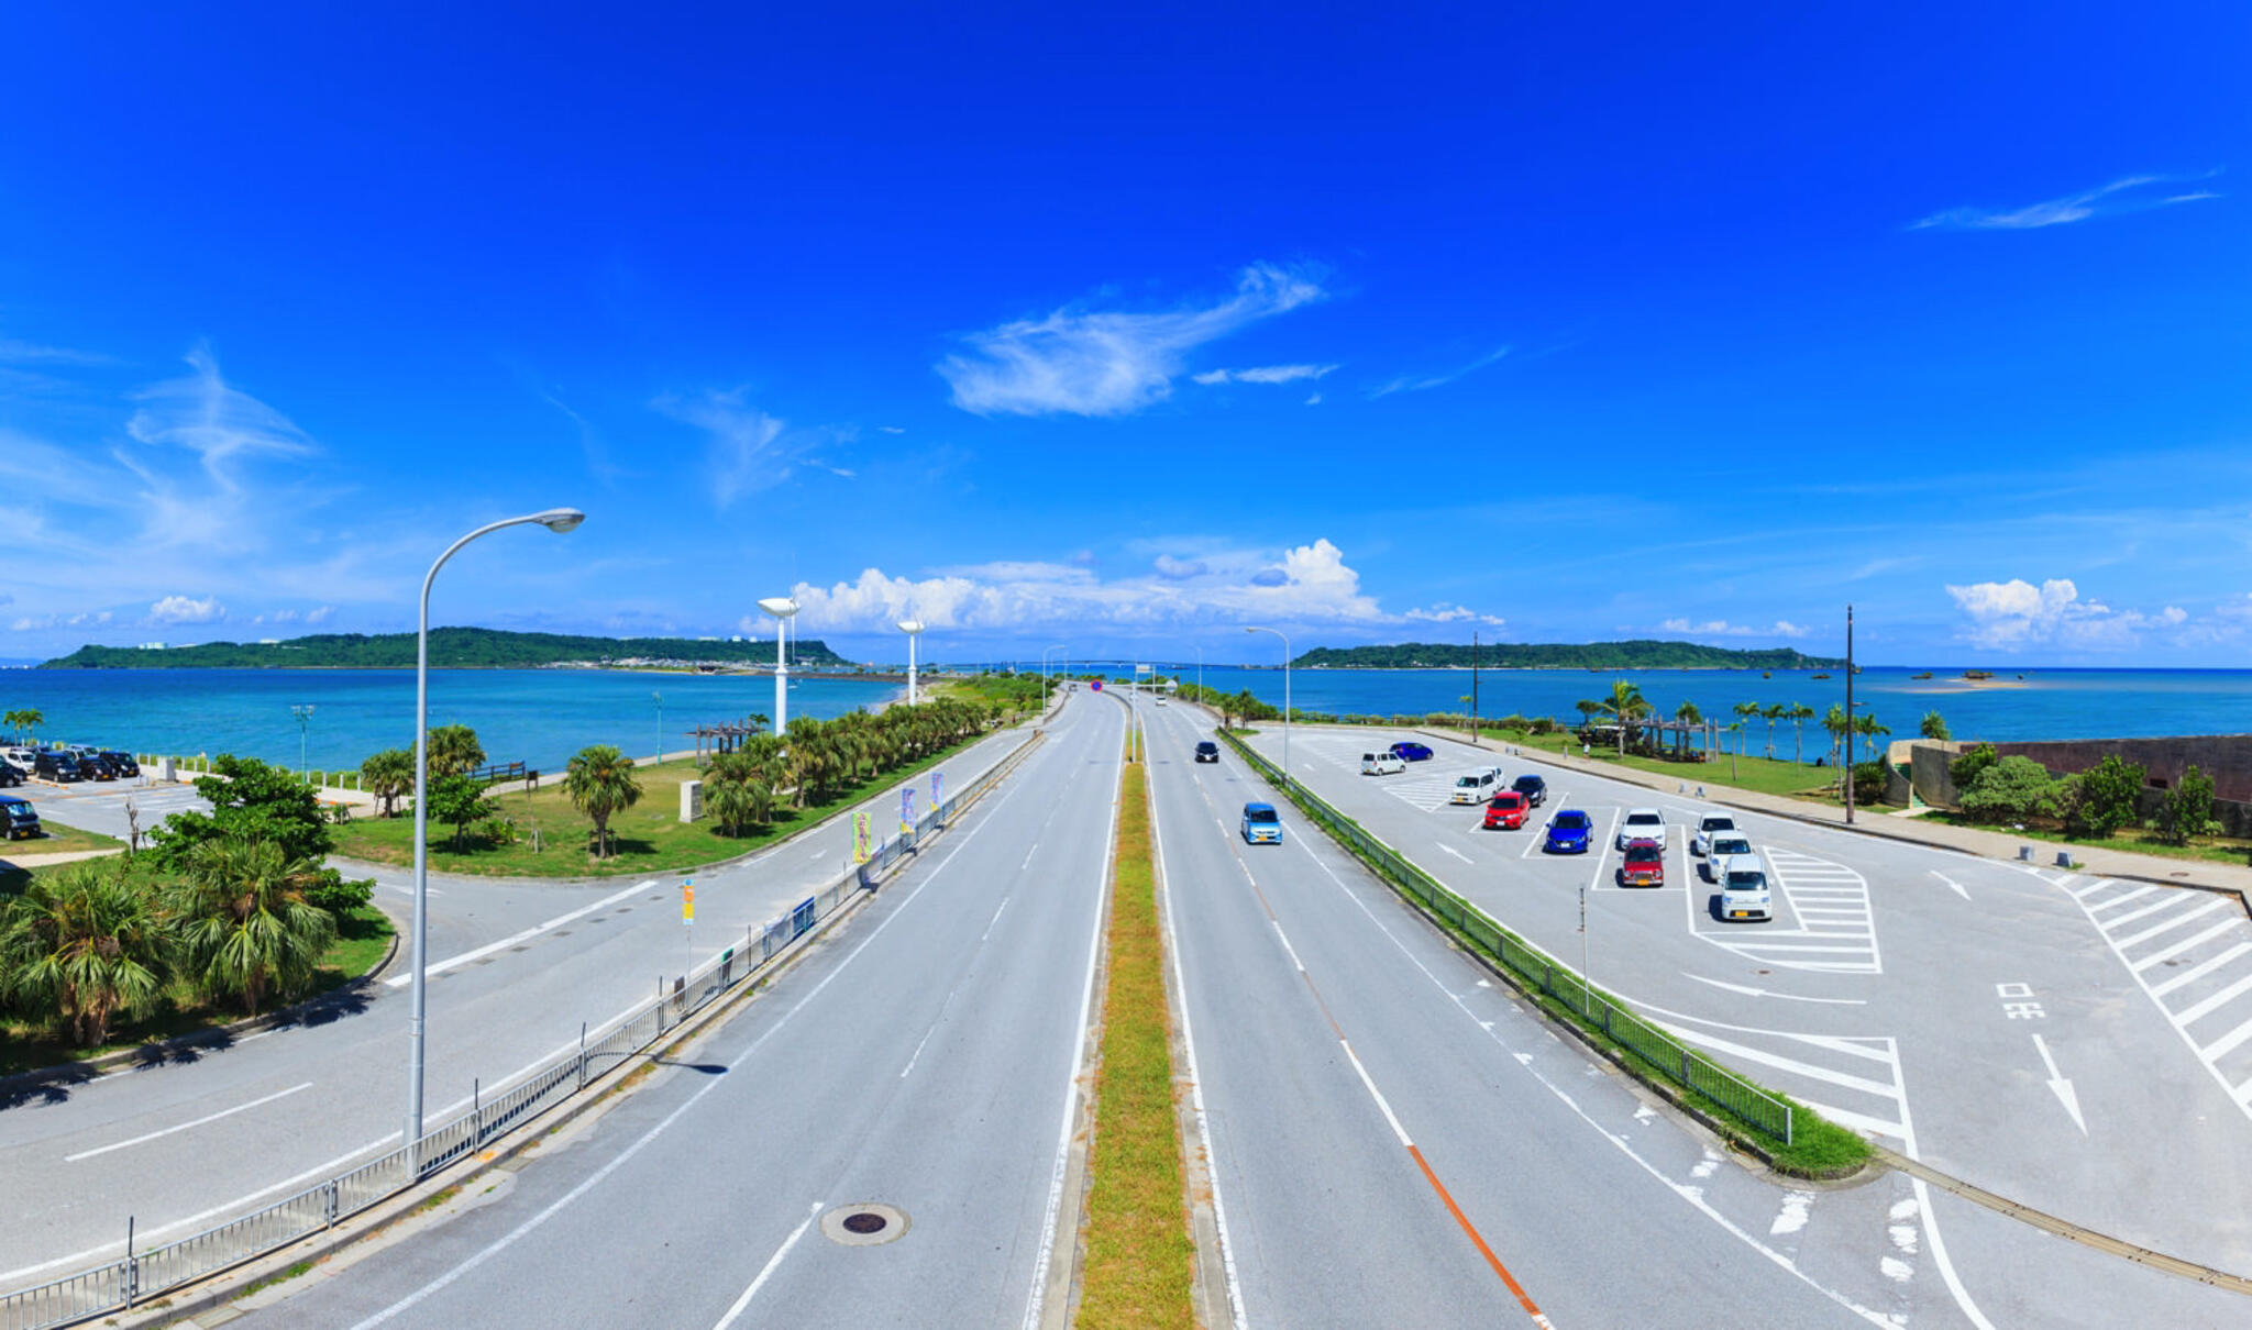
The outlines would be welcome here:
<svg viewBox="0 0 2252 1330">
<path fill-rule="evenodd" d="M 146 1251 L 135 1249 L 133 1220 L 126 1220 L 122 1260 L 0 1294 L 0 1330 L 47 1330 L 131 1310 L 146 1298 L 333 1229 L 417 1181 L 475 1157 L 500 1136 L 583 1094 L 637 1053 L 649 1051 L 667 1033 L 831 918 L 856 893 L 874 891 L 892 866 L 914 853 L 923 837 L 944 830 L 962 808 L 1013 772 L 1043 738 L 1034 734 L 1029 743 L 944 799 L 903 835 L 885 839 L 865 864 L 856 864 L 775 920 L 745 929 L 743 945 L 727 947 L 696 970 L 676 977 L 669 992 L 660 986 L 658 997 L 628 1008 L 592 1033 L 581 1026 L 577 1053 L 538 1067 L 520 1085 L 493 1098 L 484 1098 L 482 1089 L 475 1091 L 468 1112 L 428 1130 L 419 1143 L 401 1145 L 270 1206 Z"/>
</svg>

